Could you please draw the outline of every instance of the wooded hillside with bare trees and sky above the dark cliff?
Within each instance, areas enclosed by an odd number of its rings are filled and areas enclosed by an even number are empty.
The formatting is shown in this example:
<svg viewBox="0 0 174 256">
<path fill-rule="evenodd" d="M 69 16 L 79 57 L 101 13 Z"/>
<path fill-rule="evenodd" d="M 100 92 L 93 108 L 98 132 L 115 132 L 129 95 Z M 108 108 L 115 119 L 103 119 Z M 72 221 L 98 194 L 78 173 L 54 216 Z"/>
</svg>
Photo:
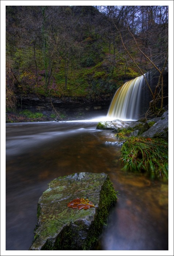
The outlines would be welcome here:
<svg viewBox="0 0 174 256">
<path fill-rule="evenodd" d="M 100 99 L 152 68 L 162 108 L 167 67 L 168 6 L 6 6 L 7 109 L 26 95 Z"/>
</svg>

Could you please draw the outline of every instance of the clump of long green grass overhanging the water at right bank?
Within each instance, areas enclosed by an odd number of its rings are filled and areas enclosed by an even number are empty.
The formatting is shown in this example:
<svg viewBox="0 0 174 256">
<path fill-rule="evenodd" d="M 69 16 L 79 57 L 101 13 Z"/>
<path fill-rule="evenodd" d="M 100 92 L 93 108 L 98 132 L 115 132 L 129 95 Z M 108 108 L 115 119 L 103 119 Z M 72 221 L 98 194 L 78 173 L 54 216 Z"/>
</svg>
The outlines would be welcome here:
<svg viewBox="0 0 174 256">
<path fill-rule="evenodd" d="M 122 170 L 148 172 L 151 179 L 168 179 L 168 143 L 162 139 L 129 137 L 121 148 Z"/>
</svg>

